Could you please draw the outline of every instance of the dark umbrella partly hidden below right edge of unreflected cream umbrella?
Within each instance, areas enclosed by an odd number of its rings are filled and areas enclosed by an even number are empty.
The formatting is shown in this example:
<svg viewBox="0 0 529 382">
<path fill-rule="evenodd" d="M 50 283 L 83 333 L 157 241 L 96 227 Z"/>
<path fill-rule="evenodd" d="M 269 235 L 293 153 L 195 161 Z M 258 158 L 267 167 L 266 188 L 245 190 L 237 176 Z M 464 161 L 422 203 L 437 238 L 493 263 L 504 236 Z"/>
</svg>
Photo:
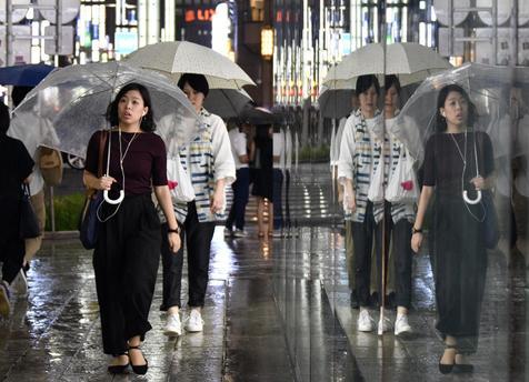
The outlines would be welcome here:
<svg viewBox="0 0 529 382">
<path fill-rule="evenodd" d="M 252 99 L 242 89 L 211 89 L 203 101 L 203 107 L 219 117 L 237 118 L 249 102 L 252 102 Z"/>
</svg>

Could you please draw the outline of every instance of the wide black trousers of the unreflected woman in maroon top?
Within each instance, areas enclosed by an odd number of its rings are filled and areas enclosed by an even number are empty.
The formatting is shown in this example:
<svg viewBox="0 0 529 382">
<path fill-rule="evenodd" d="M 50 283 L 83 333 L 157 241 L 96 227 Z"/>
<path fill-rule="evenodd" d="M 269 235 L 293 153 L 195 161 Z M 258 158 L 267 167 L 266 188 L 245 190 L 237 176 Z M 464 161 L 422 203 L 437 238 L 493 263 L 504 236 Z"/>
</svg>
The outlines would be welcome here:
<svg viewBox="0 0 529 382">
<path fill-rule="evenodd" d="M 103 214 L 114 209 L 103 204 Z M 152 328 L 148 316 L 160 243 L 160 220 L 150 193 L 126 198 L 118 213 L 100 224 L 93 270 L 107 354 L 123 353 L 128 339 L 143 340 Z"/>
</svg>

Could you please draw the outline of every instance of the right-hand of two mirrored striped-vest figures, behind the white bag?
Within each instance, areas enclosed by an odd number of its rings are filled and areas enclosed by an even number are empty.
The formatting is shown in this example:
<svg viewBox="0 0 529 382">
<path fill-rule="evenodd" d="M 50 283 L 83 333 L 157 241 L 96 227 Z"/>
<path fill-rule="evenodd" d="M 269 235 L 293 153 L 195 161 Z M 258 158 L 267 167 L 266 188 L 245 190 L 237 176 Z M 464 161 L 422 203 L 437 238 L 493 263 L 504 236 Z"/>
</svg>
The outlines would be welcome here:
<svg viewBox="0 0 529 382">
<path fill-rule="evenodd" d="M 390 169 L 395 171 L 405 144 L 395 135 L 395 122 L 400 102 L 400 83 L 396 76 L 387 76 L 385 94 L 386 131 L 389 135 L 391 148 Z M 396 286 L 397 319 L 395 320 L 395 334 L 411 331 L 408 323 L 408 310 L 411 308 L 411 224 L 415 220 L 412 203 L 389 203 L 386 217 L 386 234 L 392 234 L 392 264 Z M 389 251 L 388 251 L 389 252 Z M 387 257 L 388 259 L 388 257 Z"/>
</svg>

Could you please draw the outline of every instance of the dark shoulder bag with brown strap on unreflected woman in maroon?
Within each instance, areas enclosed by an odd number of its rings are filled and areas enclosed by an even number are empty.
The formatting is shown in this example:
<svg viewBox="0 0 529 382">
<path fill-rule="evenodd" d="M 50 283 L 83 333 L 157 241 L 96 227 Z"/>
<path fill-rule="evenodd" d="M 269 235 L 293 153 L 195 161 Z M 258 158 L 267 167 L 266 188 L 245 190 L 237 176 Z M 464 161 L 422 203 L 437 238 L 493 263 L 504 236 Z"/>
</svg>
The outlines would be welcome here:
<svg viewBox="0 0 529 382">
<path fill-rule="evenodd" d="M 107 142 L 108 131 L 102 130 L 99 137 L 99 161 L 98 161 L 98 178 L 102 175 L 103 169 L 103 148 Z M 103 201 L 103 193 L 101 190 L 88 189 L 87 198 L 79 219 L 79 239 L 82 247 L 87 250 L 96 248 L 98 242 L 99 219 L 98 209 Z"/>
</svg>

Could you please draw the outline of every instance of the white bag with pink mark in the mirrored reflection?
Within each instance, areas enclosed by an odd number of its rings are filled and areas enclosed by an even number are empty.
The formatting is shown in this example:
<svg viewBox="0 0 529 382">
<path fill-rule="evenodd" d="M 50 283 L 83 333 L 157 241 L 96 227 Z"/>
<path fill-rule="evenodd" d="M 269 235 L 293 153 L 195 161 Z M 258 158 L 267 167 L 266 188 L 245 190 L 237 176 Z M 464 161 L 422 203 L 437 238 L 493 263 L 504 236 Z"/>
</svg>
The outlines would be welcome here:
<svg viewBox="0 0 529 382">
<path fill-rule="evenodd" d="M 401 148 L 399 161 L 388 181 L 386 200 L 391 203 L 416 202 L 419 188 L 413 170 L 413 158 L 406 148 Z"/>
</svg>

